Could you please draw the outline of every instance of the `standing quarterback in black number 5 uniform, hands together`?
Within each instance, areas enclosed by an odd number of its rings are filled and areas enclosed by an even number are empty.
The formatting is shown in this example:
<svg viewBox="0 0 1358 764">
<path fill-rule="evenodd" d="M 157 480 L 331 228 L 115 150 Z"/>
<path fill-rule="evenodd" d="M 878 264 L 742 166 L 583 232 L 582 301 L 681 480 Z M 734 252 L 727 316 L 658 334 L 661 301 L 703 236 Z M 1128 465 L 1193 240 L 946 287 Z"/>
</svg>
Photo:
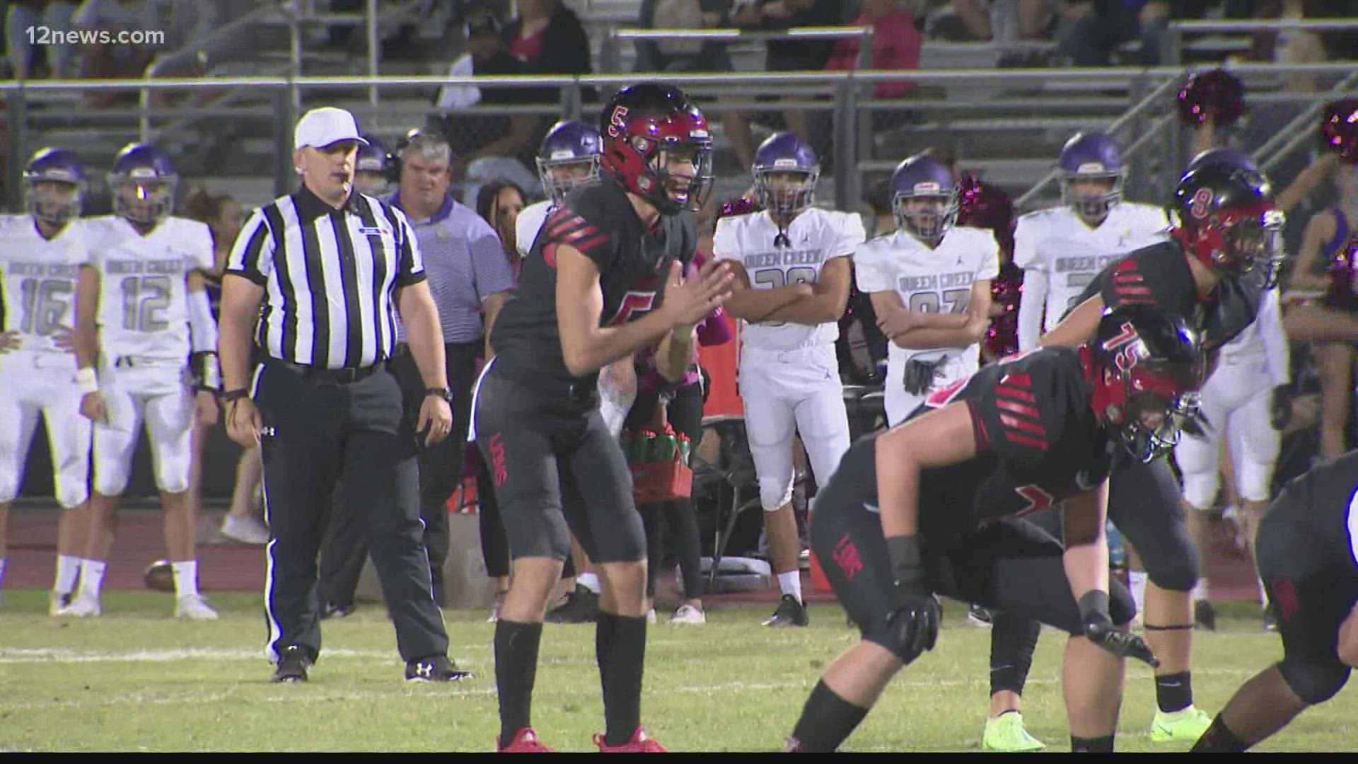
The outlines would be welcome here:
<svg viewBox="0 0 1358 764">
<path fill-rule="evenodd" d="M 663 750 L 641 727 L 646 545 L 631 473 L 599 415 L 599 368 L 657 347 L 678 379 L 694 325 L 731 294 L 713 261 L 682 268 L 698 243 L 691 211 L 712 175 L 712 136 L 676 87 L 641 83 L 604 107 L 602 182 L 576 189 L 524 258 L 519 294 L 496 321 L 471 436 L 490 465 L 513 557 L 496 624 L 500 748 L 539 752 L 530 726 L 547 600 L 570 534 L 603 583 L 596 631 L 607 733 L 603 750 Z"/>
</svg>

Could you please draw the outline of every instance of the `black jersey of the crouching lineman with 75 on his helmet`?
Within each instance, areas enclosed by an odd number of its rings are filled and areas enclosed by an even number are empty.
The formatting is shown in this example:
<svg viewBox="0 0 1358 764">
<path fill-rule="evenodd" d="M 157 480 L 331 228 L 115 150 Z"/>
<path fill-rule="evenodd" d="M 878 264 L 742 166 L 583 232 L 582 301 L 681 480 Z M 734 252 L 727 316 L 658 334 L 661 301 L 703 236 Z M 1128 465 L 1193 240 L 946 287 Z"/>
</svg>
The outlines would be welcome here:
<svg viewBox="0 0 1358 764">
<path fill-rule="evenodd" d="M 971 409 L 976 455 L 921 476 L 919 529 L 947 542 L 1001 518 L 1051 508 L 1099 487 L 1112 443 L 1090 409 L 1080 352 L 1046 348 L 990 364 L 930 394 L 911 419 L 953 402 Z M 835 481 L 877 503 L 876 442 L 860 438 Z"/>
</svg>

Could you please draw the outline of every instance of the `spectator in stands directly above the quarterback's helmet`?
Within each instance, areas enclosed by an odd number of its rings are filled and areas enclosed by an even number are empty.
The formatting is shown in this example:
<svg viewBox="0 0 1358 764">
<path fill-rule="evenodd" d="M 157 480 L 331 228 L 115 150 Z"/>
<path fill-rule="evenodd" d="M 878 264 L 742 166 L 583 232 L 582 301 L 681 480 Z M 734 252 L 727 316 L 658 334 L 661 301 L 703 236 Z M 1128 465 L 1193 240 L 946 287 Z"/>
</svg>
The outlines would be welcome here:
<svg viewBox="0 0 1358 764">
<path fill-rule="evenodd" d="M 641 0 L 638 26 L 644 29 L 713 29 L 731 23 L 729 0 Z M 725 42 L 638 39 L 637 72 L 729 72 Z M 740 111 L 721 114 L 721 126 L 741 167 L 755 160 L 750 120 Z"/>
</svg>

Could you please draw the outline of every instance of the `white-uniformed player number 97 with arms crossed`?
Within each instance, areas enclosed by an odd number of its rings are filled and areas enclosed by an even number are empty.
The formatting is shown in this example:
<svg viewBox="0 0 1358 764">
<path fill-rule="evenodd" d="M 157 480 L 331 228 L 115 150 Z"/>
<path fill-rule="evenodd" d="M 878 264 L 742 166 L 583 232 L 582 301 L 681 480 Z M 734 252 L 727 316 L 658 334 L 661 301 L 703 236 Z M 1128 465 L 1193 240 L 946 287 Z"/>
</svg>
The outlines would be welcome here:
<svg viewBox="0 0 1358 764">
<path fill-rule="evenodd" d="M 930 392 L 980 367 L 999 245 L 990 231 L 952 224 L 957 200 L 942 162 L 906 159 L 891 189 L 896 231 L 858 247 L 854 269 L 891 337 L 883 398 L 894 427 Z"/>
</svg>

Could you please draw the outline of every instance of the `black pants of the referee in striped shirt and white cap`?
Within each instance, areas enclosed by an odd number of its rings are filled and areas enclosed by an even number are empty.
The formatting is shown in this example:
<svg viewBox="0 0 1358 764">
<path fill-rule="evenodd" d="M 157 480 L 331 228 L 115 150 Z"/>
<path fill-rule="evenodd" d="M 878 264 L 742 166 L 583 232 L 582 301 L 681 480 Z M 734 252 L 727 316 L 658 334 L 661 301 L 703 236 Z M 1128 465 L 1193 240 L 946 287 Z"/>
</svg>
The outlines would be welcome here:
<svg viewBox="0 0 1358 764">
<path fill-rule="evenodd" d="M 337 383 L 269 360 L 254 400 L 272 428 L 261 438 L 270 654 L 292 644 L 312 659 L 320 651 L 316 553 L 338 483 L 344 504 L 363 518 L 401 657 L 447 655 L 448 633 L 421 540 L 414 436 L 395 377 L 379 368 Z"/>
</svg>

